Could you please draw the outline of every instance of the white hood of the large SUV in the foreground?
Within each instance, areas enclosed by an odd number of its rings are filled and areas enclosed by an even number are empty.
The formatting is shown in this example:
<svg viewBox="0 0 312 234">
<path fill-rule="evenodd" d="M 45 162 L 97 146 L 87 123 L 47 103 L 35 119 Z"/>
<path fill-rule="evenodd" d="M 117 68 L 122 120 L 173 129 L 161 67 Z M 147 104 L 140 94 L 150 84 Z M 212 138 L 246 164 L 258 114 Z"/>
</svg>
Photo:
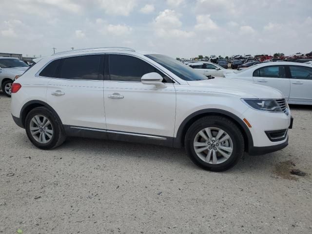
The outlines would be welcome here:
<svg viewBox="0 0 312 234">
<path fill-rule="evenodd" d="M 191 86 L 189 91 L 224 93 L 239 96 L 240 98 L 284 98 L 283 94 L 277 89 L 238 79 L 214 78 L 188 81 L 188 84 Z"/>
</svg>

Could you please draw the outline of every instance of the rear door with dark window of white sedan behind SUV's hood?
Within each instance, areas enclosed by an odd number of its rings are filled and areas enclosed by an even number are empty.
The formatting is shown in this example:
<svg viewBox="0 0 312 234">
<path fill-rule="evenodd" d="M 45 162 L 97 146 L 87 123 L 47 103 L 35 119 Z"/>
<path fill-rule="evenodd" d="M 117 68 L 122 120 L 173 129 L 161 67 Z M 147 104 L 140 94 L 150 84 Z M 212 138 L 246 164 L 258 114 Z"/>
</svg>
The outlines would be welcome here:
<svg viewBox="0 0 312 234">
<path fill-rule="evenodd" d="M 290 78 L 286 75 L 285 66 L 273 65 L 258 68 L 253 73 L 254 81 L 273 87 L 283 93 L 286 100 L 290 95 Z"/>
</svg>

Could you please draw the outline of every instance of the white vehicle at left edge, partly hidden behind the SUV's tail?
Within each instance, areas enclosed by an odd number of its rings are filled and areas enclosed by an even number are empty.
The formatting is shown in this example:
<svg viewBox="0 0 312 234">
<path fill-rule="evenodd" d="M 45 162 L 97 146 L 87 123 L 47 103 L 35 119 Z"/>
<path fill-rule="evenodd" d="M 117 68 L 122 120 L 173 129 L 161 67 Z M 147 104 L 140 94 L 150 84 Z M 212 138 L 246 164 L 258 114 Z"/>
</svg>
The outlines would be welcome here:
<svg viewBox="0 0 312 234">
<path fill-rule="evenodd" d="M 14 78 L 28 69 L 28 65 L 17 58 L 0 57 L 0 83 L 2 92 L 11 97 Z"/>
</svg>

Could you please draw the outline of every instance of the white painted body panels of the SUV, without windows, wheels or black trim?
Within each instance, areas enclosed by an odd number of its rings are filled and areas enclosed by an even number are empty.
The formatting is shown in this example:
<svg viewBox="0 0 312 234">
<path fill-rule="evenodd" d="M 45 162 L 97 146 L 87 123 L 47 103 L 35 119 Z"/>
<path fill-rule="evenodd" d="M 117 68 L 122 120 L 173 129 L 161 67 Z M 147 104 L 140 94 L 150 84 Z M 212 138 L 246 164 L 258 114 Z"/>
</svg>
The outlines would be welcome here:
<svg viewBox="0 0 312 234">
<path fill-rule="evenodd" d="M 282 93 L 251 82 L 227 78 L 186 81 L 145 57 L 145 52 L 94 50 L 92 54 L 121 53 L 142 59 L 165 73 L 175 83 L 164 86 L 142 82 L 111 80 L 72 80 L 36 76 L 51 59 L 88 55 L 91 52 L 60 54 L 38 61 L 17 81 L 21 88 L 12 94 L 12 115 L 20 117 L 30 100 L 49 104 L 63 124 L 137 134 L 176 137 L 184 119 L 203 109 L 221 109 L 243 120 L 248 119 L 254 146 L 273 146 L 266 130 L 287 129 L 291 115 L 257 111 L 241 98 L 284 98 Z M 155 54 L 155 53 L 153 53 Z M 61 95 L 51 95 L 59 92 Z"/>
</svg>

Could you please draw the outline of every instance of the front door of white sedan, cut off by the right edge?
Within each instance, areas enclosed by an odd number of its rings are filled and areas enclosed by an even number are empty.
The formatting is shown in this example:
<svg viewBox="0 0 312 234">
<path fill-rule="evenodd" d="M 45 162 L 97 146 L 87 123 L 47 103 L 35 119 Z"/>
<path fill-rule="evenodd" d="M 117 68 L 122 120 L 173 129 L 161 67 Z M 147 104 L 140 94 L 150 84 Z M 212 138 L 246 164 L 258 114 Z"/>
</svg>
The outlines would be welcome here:
<svg viewBox="0 0 312 234">
<path fill-rule="evenodd" d="M 289 101 L 312 102 L 312 68 L 289 66 L 291 73 L 291 94 Z"/>
</svg>

